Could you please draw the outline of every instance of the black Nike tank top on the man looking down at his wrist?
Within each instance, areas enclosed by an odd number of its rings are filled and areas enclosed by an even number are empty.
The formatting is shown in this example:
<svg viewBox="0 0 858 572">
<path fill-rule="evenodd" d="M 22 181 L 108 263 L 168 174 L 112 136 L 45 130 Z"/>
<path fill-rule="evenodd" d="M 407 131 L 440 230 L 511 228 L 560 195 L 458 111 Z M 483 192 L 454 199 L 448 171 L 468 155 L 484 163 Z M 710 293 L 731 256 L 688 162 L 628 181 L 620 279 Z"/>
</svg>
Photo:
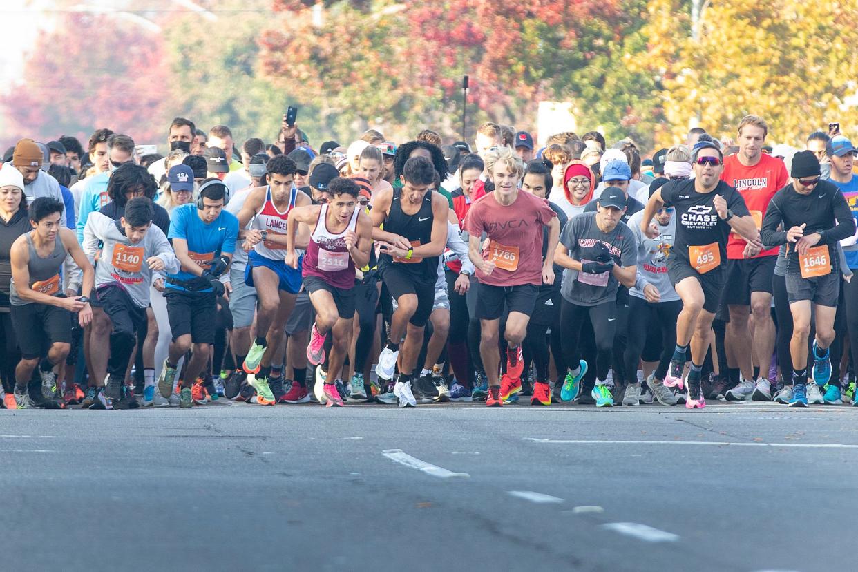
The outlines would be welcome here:
<svg viewBox="0 0 858 572">
<path fill-rule="evenodd" d="M 393 190 L 393 201 L 390 202 L 390 214 L 384 221 L 384 230 L 399 234 L 408 239 L 416 247 L 420 244 L 432 242 L 432 191 L 427 191 L 420 205 L 420 210 L 415 214 L 402 212 L 402 188 Z M 396 265 L 397 268 L 407 270 L 414 277 L 414 281 L 421 284 L 435 284 L 438 280 L 438 256 L 419 259 L 412 257 L 410 261 L 394 259 L 388 254 L 379 257 L 378 268 L 386 268 Z"/>
</svg>

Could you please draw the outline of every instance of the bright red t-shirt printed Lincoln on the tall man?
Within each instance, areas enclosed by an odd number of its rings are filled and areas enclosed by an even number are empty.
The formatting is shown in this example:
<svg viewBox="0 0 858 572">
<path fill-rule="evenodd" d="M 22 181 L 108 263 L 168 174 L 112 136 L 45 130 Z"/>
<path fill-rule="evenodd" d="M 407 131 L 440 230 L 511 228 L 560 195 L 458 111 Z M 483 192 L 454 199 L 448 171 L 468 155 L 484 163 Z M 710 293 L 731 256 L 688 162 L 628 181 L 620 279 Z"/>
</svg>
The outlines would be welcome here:
<svg viewBox="0 0 858 572">
<path fill-rule="evenodd" d="M 721 180 L 739 191 L 745 199 L 748 211 L 757 222 L 757 229 L 760 229 L 771 197 L 789 183 L 789 174 L 783 161 L 770 154 L 761 154 L 757 165 L 751 167 L 742 165 L 738 155 L 730 155 L 724 158 Z M 730 232 L 727 257 L 734 260 L 743 258 L 742 253 L 745 251 L 746 244 L 744 238 L 735 232 Z M 758 256 L 776 256 L 777 250 L 778 247 L 763 250 Z"/>
</svg>

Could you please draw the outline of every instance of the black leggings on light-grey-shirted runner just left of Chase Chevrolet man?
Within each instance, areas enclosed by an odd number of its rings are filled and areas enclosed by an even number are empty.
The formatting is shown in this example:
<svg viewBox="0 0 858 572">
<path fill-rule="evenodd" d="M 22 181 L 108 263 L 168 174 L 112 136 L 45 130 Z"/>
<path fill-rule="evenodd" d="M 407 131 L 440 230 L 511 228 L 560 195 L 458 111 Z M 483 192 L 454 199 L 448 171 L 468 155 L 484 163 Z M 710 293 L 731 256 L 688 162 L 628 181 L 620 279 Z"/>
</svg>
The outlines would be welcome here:
<svg viewBox="0 0 858 572">
<path fill-rule="evenodd" d="M 628 335 L 625 342 L 625 382 L 637 383 L 637 363 L 650 337 L 659 337 L 655 326 L 661 330 L 661 355 L 656 367 L 656 379 L 664 379 L 668 373 L 670 358 L 676 345 L 676 321 L 682 311 L 682 300 L 650 304 L 643 298 L 630 296 Z M 654 356 L 646 356 L 652 358 Z M 656 361 L 648 359 L 647 361 Z"/>
</svg>

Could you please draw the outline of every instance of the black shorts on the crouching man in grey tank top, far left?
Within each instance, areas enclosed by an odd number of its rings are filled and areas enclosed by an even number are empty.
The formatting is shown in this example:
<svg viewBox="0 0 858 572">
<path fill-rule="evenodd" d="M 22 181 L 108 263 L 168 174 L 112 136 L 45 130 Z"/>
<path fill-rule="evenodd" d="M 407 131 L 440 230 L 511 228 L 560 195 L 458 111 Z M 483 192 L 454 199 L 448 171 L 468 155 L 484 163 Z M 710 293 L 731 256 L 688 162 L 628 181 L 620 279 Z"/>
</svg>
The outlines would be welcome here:
<svg viewBox="0 0 858 572">
<path fill-rule="evenodd" d="M 39 358 L 52 344 L 71 343 L 69 310 L 50 304 L 11 304 L 9 312 L 21 358 Z"/>
</svg>

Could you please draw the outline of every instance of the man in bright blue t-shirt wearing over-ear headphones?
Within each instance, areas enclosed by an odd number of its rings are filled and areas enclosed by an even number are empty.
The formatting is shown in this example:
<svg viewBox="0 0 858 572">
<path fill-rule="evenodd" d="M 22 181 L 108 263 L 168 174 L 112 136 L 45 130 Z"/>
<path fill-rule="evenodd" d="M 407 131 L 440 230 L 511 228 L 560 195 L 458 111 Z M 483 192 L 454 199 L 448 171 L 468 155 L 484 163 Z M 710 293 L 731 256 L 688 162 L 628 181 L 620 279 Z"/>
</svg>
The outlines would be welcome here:
<svg viewBox="0 0 858 572">
<path fill-rule="evenodd" d="M 191 386 L 208 364 L 210 346 L 215 343 L 216 298 L 224 286 L 218 276 L 233 259 L 239 221 L 223 210 L 229 194 L 217 178 L 206 179 L 195 204 L 182 205 L 172 212 L 170 232 L 181 268 L 168 274 L 166 309 L 172 342 L 158 377 L 161 397 L 169 399 L 178 371 L 178 359 L 193 345 L 193 355 L 185 367 L 179 405 L 190 407 Z"/>
</svg>

